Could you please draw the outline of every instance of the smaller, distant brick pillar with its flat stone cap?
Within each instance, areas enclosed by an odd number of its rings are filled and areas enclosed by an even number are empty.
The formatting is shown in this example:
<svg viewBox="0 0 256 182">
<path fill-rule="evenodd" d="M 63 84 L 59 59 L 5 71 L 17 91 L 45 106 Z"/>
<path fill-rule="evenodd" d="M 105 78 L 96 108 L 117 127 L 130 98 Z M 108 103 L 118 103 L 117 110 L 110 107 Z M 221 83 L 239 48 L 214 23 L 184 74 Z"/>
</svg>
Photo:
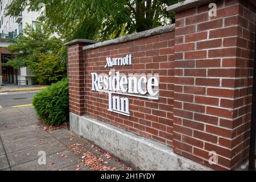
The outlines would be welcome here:
<svg viewBox="0 0 256 182">
<path fill-rule="evenodd" d="M 75 39 L 68 46 L 69 111 L 77 115 L 85 113 L 85 64 L 82 47 L 96 42 Z"/>
</svg>

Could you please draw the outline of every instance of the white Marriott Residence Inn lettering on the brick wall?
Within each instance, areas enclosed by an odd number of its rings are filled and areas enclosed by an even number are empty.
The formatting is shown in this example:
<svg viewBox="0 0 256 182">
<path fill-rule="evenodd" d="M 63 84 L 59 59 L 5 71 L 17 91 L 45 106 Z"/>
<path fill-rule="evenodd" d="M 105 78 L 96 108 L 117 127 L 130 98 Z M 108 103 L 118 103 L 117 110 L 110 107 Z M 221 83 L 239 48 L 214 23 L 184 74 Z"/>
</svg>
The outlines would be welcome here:
<svg viewBox="0 0 256 182">
<path fill-rule="evenodd" d="M 130 65 L 131 55 L 126 55 L 123 58 L 106 58 L 106 67 L 114 65 Z M 129 98 L 119 97 L 131 96 L 147 98 L 148 100 L 158 100 L 159 94 L 159 79 L 158 74 L 129 74 L 129 76 L 115 72 L 114 69 L 106 73 L 91 73 L 92 75 L 92 90 L 109 94 L 109 111 L 130 116 Z"/>
</svg>

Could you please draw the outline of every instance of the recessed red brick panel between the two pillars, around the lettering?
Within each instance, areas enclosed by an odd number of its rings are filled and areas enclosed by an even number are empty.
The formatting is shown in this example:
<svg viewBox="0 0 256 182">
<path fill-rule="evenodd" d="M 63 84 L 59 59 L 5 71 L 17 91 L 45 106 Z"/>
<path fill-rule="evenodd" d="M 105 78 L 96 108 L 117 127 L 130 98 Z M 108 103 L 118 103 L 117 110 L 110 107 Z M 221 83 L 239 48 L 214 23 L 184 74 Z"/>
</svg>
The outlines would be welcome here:
<svg viewBox="0 0 256 182">
<path fill-rule="evenodd" d="M 174 32 L 85 51 L 85 114 L 172 146 Z M 92 91 L 91 73 L 106 73 L 106 57 L 133 56 L 120 73 L 158 73 L 159 100 L 129 97 L 130 117 L 108 111 L 108 94 Z"/>
</svg>

